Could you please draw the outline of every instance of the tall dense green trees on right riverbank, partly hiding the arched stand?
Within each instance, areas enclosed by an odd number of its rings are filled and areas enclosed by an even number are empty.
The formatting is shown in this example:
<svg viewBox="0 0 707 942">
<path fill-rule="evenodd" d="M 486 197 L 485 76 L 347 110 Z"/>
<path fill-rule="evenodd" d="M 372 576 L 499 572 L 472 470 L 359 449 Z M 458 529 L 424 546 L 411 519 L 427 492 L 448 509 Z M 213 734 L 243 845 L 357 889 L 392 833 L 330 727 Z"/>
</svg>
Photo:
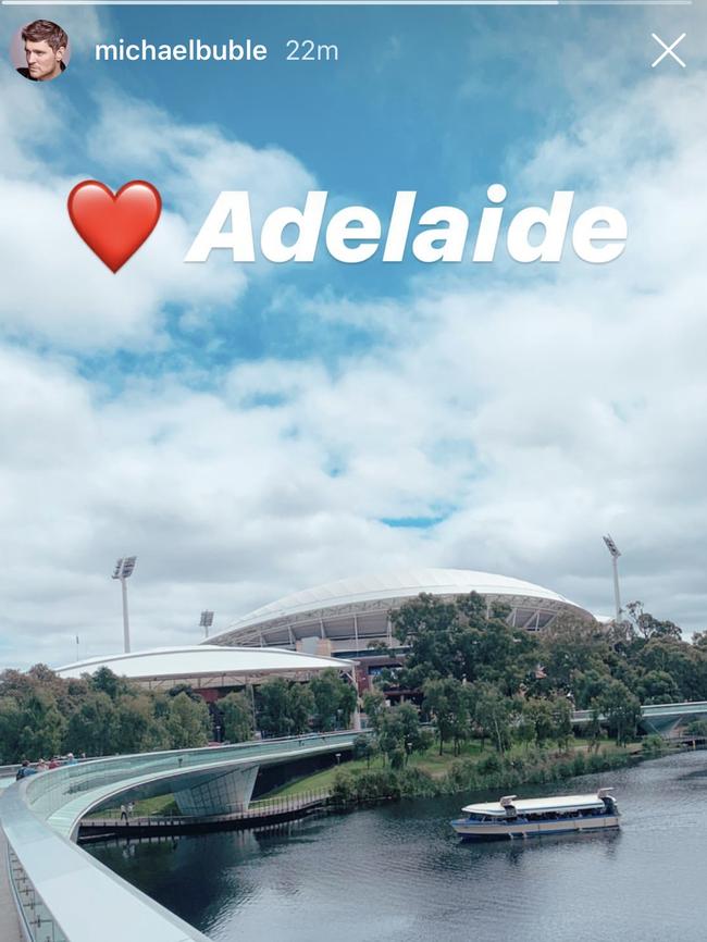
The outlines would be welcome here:
<svg viewBox="0 0 707 942">
<path fill-rule="evenodd" d="M 562 613 L 538 632 L 513 628 L 509 615 L 501 604 L 488 609 L 476 593 L 452 600 L 422 594 L 393 613 L 395 636 L 408 653 L 402 667 L 383 671 L 380 685 L 418 701 L 441 753 L 450 743 L 458 754 L 472 738 L 501 754 L 513 742 L 542 748 L 554 741 L 563 748 L 575 709 L 590 710 L 584 732 L 593 744 L 600 717 L 622 744 L 636 732 L 642 704 L 707 699 L 707 633 L 684 641 L 677 624 L 654 618 L 641 603 L 628 606 L 620 624 Z M 390 745 L 388 730 L 410 718 L 401 716 L 405 705 L 386 715 L 381 702 L 374 692 L 364 708 L 380 751 L 400 766 L 404 739 L 414 736 L 408 730 Z"/>
</svg>

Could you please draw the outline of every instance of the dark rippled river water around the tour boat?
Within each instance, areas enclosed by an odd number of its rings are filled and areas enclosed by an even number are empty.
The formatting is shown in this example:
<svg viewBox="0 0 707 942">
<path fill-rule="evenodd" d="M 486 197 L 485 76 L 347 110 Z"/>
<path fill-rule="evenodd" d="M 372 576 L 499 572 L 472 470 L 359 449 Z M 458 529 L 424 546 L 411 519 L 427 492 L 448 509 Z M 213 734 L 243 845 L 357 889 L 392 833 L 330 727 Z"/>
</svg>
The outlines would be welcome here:
<svg viewBox="0 0 707 942">
<path fill-rule="evenodd" d="M 707 940 L 707 752 L 554 791 L 607 784 L 610 834 L 461 843 L 461 795 L 86 850 L 215 942 Z"/>
</svg>

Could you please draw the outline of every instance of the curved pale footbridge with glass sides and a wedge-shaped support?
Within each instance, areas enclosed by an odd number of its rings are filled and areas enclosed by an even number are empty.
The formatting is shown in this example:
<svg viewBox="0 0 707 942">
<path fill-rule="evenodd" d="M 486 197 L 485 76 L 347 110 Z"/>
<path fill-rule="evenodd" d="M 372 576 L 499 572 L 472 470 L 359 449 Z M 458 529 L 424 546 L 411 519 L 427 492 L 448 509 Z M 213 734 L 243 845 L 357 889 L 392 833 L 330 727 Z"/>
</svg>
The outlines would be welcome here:
<svg viewBox="0 0 707 942">
<path fill-rule="evenodd" d="M 73 842 L 82 817 L 138 786 L 140 794 L 174 792 L 184 814 L 245 810 L 259 768 L 346 752 L 357 735 L 360 731 L 350 730 L 92 759 L 4 789 L 0 794 L 9 877 L 4 890 L 14 898 L 26 938 L 33 942 L 96 942 L 98 938 L 101 942 L 208 942 L 82 851 Z M 2 942 L 20 942 L 18 935 L 9 934 L 8 926 L 0 922 Z"/>
</svg>

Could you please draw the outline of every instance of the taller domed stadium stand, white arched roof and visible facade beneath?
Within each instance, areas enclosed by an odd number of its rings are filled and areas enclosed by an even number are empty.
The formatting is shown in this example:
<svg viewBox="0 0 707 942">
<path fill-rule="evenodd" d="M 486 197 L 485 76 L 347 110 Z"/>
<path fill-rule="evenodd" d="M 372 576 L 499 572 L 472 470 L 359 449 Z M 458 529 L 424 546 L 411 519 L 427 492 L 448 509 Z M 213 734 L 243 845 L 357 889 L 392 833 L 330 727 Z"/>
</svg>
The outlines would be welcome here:
<svg viewBox="0 0 707 942">
<path fill-rule="evenodd" d="M 483 596 L 488 609 L 505 603 L 509 623 L 529 631 L 546 628 L 562 612 L 593 618 L 556 592 L 520 579 L 467 569 L 412 569 L 344 579 L 287 595 L 238 618 L 208 644 L 272 646 L 359 660 L 359 683 L 365 687 L 369 677 L 396 662 L 376 650 L 376 643 L 396 658 L 405 654 L 396 647 L 393 610 L 420 593 L 452 599 L 470 592 Z"/>
</svg>

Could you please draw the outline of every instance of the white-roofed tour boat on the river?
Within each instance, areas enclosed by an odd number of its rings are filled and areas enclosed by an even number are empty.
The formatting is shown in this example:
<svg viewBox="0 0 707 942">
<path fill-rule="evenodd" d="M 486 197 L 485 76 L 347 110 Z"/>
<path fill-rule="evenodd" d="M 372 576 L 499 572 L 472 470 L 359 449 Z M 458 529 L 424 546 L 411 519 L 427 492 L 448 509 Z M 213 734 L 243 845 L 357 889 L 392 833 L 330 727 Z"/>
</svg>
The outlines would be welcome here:
<svg viewBox="0 0 707 942">
<path fill-rule="evenodd" d="M 499 802 L 467 805 L 467 816 L 451 822 L 462 838 L 498 841 L 566 834 L 571 831 L 603 831 L 619 827 L 619 809 L 611 789 L 595 795 L 556 795 L 548 798 L 517 798 L 506 795 Z"/>
</svg>

